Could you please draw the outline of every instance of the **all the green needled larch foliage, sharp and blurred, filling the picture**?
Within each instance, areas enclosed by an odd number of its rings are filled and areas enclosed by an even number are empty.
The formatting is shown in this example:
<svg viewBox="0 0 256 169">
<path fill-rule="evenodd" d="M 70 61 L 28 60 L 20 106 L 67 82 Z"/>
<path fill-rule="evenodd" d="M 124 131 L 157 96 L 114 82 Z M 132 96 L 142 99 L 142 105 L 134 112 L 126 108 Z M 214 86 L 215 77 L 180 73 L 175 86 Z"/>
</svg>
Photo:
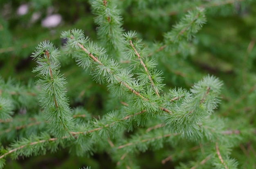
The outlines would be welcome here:
<svg viewBox="0 0 256 169">
<path fill-rule="evenodd" d="M 54 3 L 32 0 L 30 7 L 40 11 Z M 15 66 L 2 74 L 11 60 L 1 58 L 0 168 L 8 167 L 9 158 L 47 153 L 82 157 L 81 165 L 72 165 L 76 168 L 100 168 L 93 164 L 95 154 L 106 158 L 105 168 L 255 167 L 256 29 L 245 35 L 249 45 L 243 36 L 234 37 L 243 48 L 236 51 L 216 42 L 217 37 L 229 42 L 231 28 L 211 32 L 222 26 L 213 21 L 217 14 L 223 19 L 251 10 L 256 16 L 254 1 L 83 3 L 90 4 L 94 15 L 80 22 L 95 23 L 96 31 L 88 26 L 87 36 L 81 25 L 65 25 L 56 31 L 63 46 L 57 39 L 38 37 L 38 46 L 13 51 L 21 58 L 32 53 L 28 67 L 33 75 L 22 78 L 13 73 Z M 6 48 L 12 35 L 7 27 L 6 21 L 0 24 L 6 37 L 0 53 L 12 52 Z"/>
</svg>

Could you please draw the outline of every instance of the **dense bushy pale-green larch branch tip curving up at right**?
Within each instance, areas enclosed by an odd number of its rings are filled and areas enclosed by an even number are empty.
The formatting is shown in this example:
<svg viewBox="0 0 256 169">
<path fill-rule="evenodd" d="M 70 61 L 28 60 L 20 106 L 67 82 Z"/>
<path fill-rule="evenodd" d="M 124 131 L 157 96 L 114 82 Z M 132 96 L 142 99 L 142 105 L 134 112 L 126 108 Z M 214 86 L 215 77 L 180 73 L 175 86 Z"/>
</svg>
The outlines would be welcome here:
<svg viewBox="0 0 256 169">
<path fill-rule="evenodd" d="M 186 97 L 184 97 L 184 101 L 179 104 L 179 108 L 172 115 L 166 115 L 166 125 L 172 128 L 173 132 L 181 132 L 183 136 L 188 138 L 191 134 L 201 137 L 198 127 L 218 106 L 218 94 L 221 86 L 221 81 L 213 76 L 207 76 L 202 81 L 195 83 L 191 88 L 193 95 L 184 93 L 181 90 L 177 92 L 177 94 L 183 93 Z M 166 99 L 169 100 L 169 98 Z M 169 103 L 166 102 L 165 104 Z M 205 129 L 207 131 L 207 128 Z"/>
</svg>

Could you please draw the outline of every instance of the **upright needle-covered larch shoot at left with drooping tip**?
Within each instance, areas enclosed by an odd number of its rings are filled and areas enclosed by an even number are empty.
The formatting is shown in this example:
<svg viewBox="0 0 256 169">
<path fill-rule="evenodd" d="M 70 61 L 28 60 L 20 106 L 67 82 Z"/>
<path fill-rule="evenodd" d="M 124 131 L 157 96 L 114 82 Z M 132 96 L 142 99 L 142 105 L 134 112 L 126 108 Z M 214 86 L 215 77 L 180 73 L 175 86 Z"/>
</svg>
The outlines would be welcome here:
<svg viewBox="0 0 256 169">
<path fill-rule="evenodd" d="M 54 136 L 63 137 L 69 135 L 74 126 L 70 108 L 68 107 L 65 78 L 59 75 L 60 64 L 58 50 L 49 41 L 38 45 L 31 57 L 39 64 L 33 72 L 38 72 L 41 78 L 36 83 L 41 86 L 40 103 L 46 121 L 49 121 L 49 132 Z"/>
</svg>

